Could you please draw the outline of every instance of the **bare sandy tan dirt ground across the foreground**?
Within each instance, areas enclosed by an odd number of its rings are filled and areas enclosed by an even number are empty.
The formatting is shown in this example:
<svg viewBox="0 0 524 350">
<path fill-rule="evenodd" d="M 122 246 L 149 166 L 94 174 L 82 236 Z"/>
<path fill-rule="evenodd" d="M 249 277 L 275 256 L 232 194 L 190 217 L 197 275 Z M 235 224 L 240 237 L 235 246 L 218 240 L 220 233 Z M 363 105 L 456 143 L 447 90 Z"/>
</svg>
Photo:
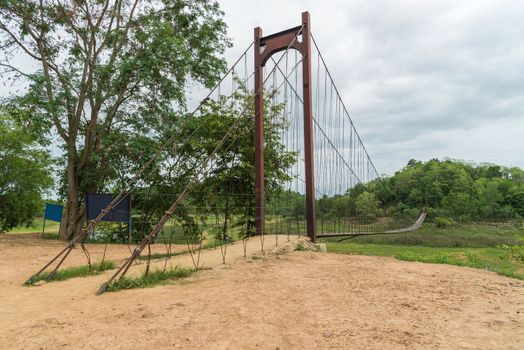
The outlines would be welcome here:
<svg viewBox="0 0 524 350">
<path fill-rule="evenodd" d="M 244 259 L 237 244 L 227 264 L 211 250 L 211 269 L 155 288 L 96 296 L 111 272 L 23 287 L 61 247 L 0 235 L 0 348 L 524 349 L 524 282 L 488 271 L 307 251 Z M 89 246 L 95 261 L 103 248 Z M 82 252 L 67 264 L 85 264 Z"/>
</svg>

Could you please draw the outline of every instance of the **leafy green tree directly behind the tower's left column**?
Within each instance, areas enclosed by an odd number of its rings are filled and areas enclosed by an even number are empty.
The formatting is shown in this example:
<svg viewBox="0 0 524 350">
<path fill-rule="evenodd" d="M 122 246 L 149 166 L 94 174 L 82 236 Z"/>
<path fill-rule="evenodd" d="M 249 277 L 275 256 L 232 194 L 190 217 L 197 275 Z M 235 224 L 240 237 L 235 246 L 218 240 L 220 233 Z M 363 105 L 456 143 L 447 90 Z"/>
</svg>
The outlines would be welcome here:
<svg viewBox="0 0 524 350">
<path fill-rule="evenodd" d="M 264 122 L 264 185 L 266 206 L 270 207 L 281 197 L 283 185 L 292 179 L 289 168 L 296 161 L 296 153 L 286 150 L 282 134 L 288 128 L 288 121 L 283 115 L 283 104 L 273 103 L 276 91 L 265 92 Z M 233 103 L 209 101 L 206 114 L 213 115 L 212 125 L 205 128 L 200 137 L 205 143 L 212 142 L 221 135 L 230 133 L 217 152 L 215 167 L 209 176 L 196 188 L 200 194 L 196 197 L 200 206 L 205 204 L 213 210 L 223 213 L 224 225 L 220 234 L 228 234 L 228 225 L 240 226 L 240 233 L 249 236 L 255 232 L 255 124 L 252 122 L 254 103 L 252 92 L 239 89 L 234 94 Z M 238 128 L 238 129 L 236 129 Z M 204 146 L 205 148 L 205 146 Z M 231 218 L 238 218 L 230 223 Z"/>
</svg>

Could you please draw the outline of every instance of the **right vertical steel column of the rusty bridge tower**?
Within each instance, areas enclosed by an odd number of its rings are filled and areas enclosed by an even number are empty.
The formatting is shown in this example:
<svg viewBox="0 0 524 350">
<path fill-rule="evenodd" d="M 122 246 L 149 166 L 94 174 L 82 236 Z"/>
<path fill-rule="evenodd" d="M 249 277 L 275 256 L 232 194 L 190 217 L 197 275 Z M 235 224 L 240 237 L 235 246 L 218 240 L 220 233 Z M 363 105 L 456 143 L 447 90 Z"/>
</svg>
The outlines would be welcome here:
<svg viewBox="0 0 524 350">
<path fill-rule="evenodd" d="M 313 111 L 311 88 L 311 24 L 309 12 L 302 13 L 302 94 L 304 99 L 304 157 L 306 165 L 307 235 L 317 240 L 315 215 L 315 169 L 313 158 Z"/>
</svg>

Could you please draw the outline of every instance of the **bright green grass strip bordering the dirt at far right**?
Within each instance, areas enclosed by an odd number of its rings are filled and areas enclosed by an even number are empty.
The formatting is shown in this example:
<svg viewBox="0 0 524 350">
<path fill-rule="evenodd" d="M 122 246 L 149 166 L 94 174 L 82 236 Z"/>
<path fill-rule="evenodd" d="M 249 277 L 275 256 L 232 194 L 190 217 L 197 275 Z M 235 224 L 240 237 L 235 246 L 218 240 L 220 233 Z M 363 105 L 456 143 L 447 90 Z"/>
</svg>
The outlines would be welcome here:
<svg viewBox="0 0 524 350">
<path fill-rule="evenodd" d="M 468 266 L 524 279 L 524 263 L 515 257 L 514 248 L 424 247 L 333 242 L 328 242 L 327 248 L 328 252 L 332 253 L 389 256 L 405 261 Z"/>
</svg>

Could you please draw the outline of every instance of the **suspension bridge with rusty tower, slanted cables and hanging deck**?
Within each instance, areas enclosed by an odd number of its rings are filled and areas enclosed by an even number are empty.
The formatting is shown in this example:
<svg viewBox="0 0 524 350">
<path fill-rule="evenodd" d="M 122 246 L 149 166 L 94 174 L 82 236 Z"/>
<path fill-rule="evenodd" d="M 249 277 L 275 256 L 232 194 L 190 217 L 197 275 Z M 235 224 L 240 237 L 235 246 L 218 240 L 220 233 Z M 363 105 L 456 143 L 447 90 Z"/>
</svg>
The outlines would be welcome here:
<svg viewBox="0 0 524 350">
<path fill-rule="evenodd" d="M 302 14 L 297 27 L 269 36 L 255 28 L 254 34 L 219 83 L 178 120 L 121 192 L 28 283 L 47 270 L 52 279 L 77 246 L 91 266 L 84 245 L 89 232 L 127 196 L 148 187 L 156 203 L 170 205 L 156 215 L 143 208 L 143 237 L 99 294 L 139 263 L 144 251 L 147 274 L 150 246 L 160 235 L 169 242 L 168 259 L 175 226 L 190 252 L 200 251 L 206 235 L 212 235 L 224 262 L 232 240 L 242 240 L 245 252 L 253 237 L 264 250 L 268 234 L 278 245 L 279 237 L 289 240 L 291 235 L 307 235 L 315 242 L 420 227 L 424 213 L 407 227 L 387 213 L 374 220 L 357 215 L 355 195 L 370 184 L 379 186 L 381 179 L 311 34 L 309 13 Z M 152 190 L 147 179 L 154 172 L 163 180 Z M 151 218 L 156 222 L 150 223 Z"/>
</svg>

